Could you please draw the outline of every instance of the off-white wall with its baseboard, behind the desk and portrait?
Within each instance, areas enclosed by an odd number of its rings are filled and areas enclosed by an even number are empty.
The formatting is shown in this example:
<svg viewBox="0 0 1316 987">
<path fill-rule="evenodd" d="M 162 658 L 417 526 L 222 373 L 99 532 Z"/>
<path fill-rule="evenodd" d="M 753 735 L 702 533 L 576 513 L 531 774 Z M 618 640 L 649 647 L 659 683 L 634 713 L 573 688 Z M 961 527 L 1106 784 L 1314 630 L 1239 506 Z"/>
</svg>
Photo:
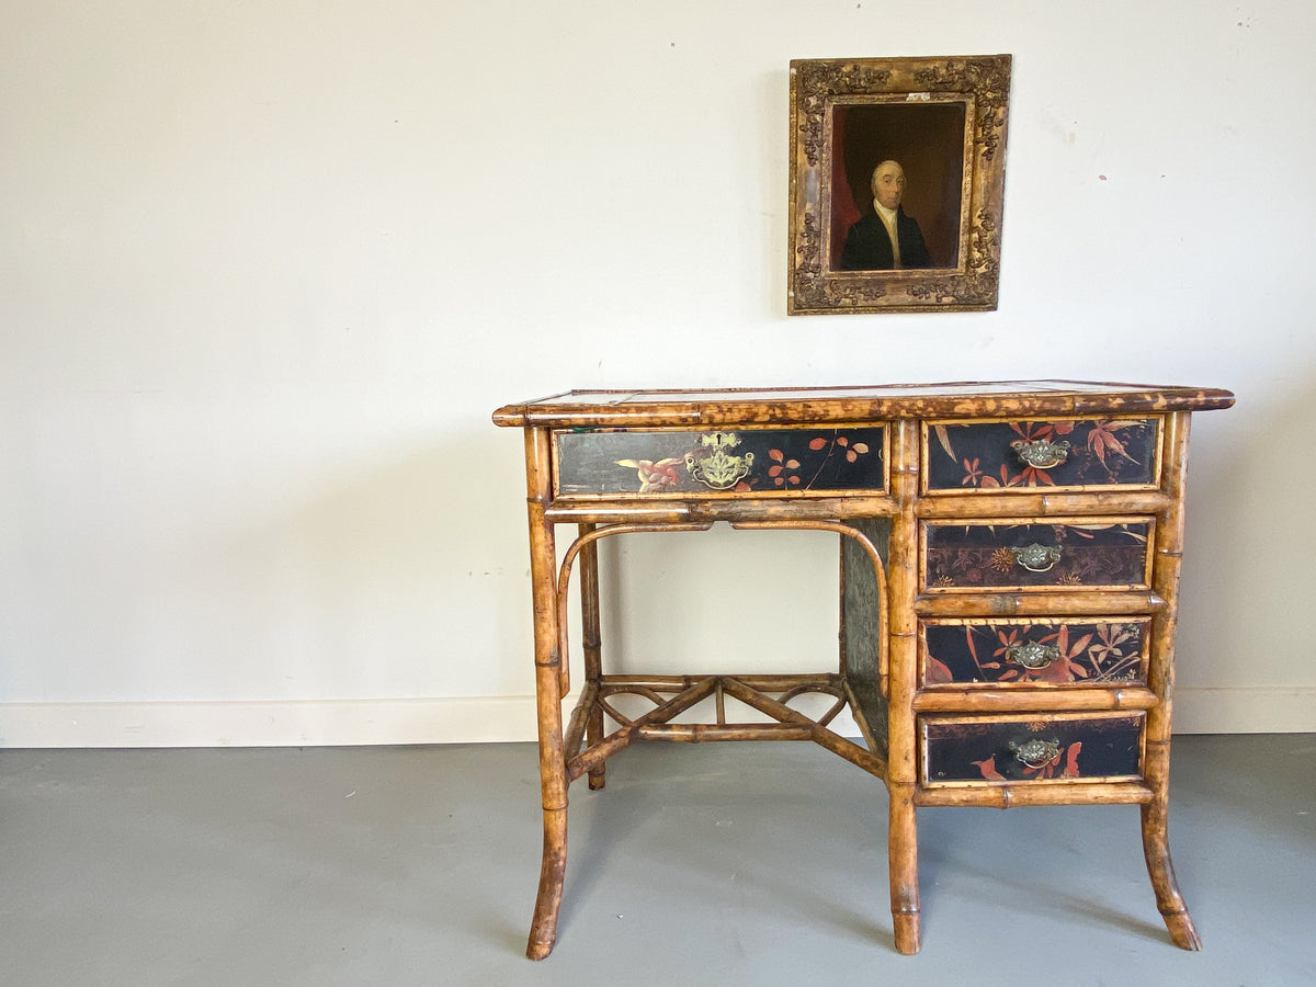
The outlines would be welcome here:
<svg viewBox="0 0 1316 987">
<path fill-rule="evenodd" d="M 7 3 L 0 745 L 528 738 L 496 405 L 1020 376 L 1238 393 L 1179 725 L 1316 729 L 1316 7 L 917 9 Z M 787 318 L 787 62 L 1001 51 L 1000 309 Z M 829 537 L 621 555 L 632 665 L 834 658 Z"/>
</svg>

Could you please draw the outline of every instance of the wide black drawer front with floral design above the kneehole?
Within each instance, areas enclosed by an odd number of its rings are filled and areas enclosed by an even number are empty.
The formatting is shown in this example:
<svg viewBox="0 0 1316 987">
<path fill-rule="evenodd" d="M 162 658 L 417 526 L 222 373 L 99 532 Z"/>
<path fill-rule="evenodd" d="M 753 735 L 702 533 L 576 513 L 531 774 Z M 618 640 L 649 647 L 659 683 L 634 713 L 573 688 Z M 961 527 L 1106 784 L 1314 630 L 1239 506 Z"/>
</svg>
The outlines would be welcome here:
<svg viewBox="0 0 1316 987">
<path fill-rule="evenodd" d="M 562 496 L 886 492 L 886 429 L 555 432 Z"/>
</svg>

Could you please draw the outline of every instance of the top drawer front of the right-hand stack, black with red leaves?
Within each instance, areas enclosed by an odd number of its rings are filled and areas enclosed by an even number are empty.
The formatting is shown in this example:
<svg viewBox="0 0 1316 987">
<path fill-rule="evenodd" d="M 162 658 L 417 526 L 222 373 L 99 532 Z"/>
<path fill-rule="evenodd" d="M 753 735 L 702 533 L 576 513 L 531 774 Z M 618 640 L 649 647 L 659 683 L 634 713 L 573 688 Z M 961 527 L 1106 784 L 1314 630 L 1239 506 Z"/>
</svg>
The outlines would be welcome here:
<svg viewBox="0 0 1316 987">
<path fill-rule="evenodd" d="M 925 492 L 1154 488 L 1161 418 L 929 421 Z"/>
</svg>

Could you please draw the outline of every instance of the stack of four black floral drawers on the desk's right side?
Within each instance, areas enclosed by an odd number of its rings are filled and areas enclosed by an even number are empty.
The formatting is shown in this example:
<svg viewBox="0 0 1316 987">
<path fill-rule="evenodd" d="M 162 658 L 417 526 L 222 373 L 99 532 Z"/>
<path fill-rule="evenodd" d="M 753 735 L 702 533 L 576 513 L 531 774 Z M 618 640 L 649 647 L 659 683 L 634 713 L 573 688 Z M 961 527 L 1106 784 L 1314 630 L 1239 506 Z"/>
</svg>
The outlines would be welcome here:
<svg viewBox="0 0 1316 987">
<path fill-rule="evenodd" d="M 1138 795 L 1166 421 L 920 422 L 921 804 Z"/>
</svg>

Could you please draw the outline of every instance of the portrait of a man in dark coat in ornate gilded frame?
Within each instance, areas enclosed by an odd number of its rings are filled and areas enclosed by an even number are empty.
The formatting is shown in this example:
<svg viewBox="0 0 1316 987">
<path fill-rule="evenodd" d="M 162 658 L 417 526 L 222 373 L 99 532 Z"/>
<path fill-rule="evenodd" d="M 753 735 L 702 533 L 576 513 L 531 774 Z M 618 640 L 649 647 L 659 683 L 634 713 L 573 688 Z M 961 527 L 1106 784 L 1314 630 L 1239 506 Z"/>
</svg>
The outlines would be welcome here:
<svg viewBox="0 0 1316 987">
<path fill-rule="evenodd" d="M 1009 55 L 791 62 L 791 315 L 992 311 Z"/>
</svg>

